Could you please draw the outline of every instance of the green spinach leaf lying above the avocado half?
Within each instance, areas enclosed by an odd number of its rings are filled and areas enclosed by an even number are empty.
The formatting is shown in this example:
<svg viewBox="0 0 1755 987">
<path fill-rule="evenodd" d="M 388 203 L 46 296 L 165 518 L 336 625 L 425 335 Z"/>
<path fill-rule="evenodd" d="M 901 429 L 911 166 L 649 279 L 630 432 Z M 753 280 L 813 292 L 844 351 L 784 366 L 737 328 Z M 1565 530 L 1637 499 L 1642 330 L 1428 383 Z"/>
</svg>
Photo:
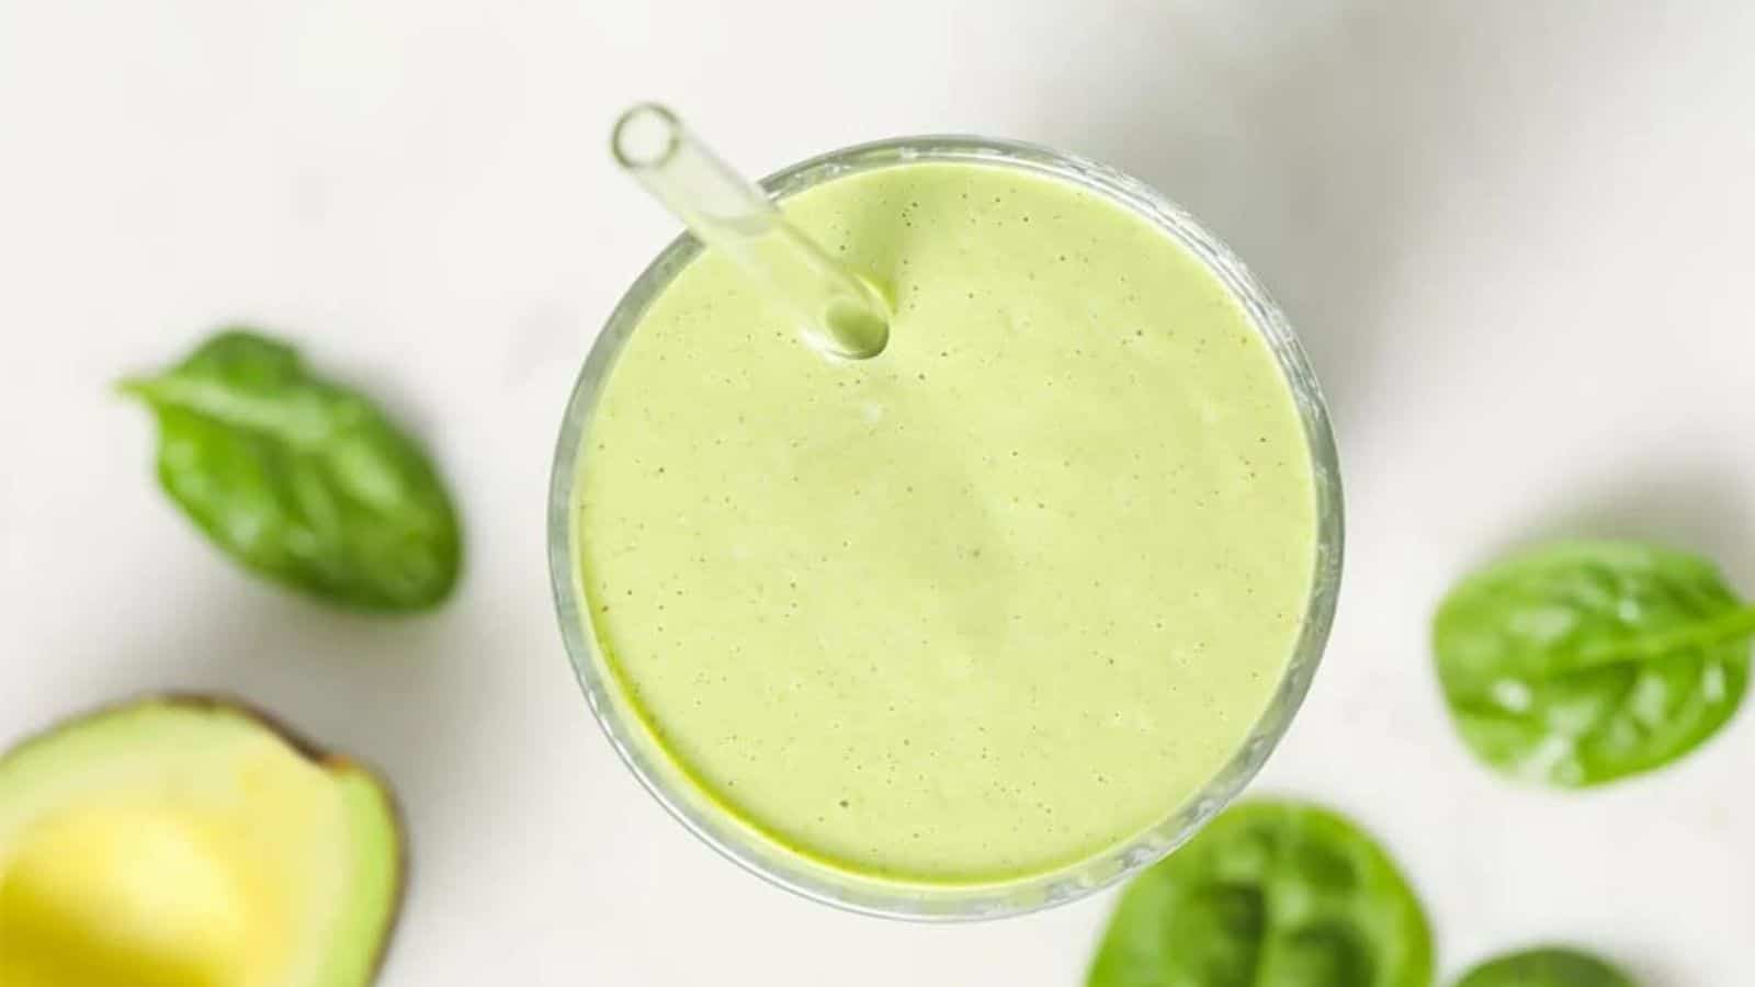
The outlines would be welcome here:
<svg viewBox="0 0 1755 987">
<path fill-rule="evenodd" d="M 293 348 L 225 330 L 121 390 L 158 418 L 165 490 L 249 569 L 377 611 L 437 606 L 456 583 L 456 511 L 432 462 Z"/>
</svg>

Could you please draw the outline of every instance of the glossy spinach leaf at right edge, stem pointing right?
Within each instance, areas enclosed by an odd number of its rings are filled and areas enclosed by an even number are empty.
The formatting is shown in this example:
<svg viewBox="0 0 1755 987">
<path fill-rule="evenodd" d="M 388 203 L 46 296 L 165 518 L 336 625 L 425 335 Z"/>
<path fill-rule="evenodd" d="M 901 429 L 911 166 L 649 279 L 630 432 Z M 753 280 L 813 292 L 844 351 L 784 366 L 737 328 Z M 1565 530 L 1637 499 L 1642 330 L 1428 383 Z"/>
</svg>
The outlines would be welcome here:
<svg viewBox="0 0 1755 987">
<path fill-rule="evenodd" d="M 1709 562 L 1625 541 L 1525 551 L 1465 580 L 1432 629 L 1464 743 L 1585 787 L 1699 746 L 1748 687 L 1755 608 Z"/>
</svg>

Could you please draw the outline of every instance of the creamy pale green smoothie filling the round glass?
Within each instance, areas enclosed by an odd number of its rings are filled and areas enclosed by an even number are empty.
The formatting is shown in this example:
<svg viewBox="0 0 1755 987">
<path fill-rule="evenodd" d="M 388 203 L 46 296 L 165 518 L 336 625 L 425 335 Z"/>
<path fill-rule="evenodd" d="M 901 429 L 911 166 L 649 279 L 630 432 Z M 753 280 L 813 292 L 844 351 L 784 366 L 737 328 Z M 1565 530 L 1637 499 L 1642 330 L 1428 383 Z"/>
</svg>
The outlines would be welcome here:
<svg viewBox="0 0 1755 987">
<path fill-rule="evenodd" d="M 797 854 L 909 883 L 1137 836 L 1293 652 L 1292 392 L 1183 244 L 1069 181 L 899 163 L 784 202 L 895 299 L 823 357 L 706 253 L 584 437 L 581 609 L 651 739 Z"/>
</svg>

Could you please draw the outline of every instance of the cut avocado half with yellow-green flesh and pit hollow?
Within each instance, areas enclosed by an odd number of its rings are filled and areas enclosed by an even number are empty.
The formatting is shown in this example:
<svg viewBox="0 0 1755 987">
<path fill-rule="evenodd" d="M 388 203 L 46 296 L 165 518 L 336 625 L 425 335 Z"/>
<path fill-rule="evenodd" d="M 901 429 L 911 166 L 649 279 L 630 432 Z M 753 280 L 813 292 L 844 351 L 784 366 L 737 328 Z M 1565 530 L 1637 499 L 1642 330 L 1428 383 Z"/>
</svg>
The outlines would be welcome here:
<svg viewBox="0 0 1755 987">
<path fill-rule="evenodd" d="M 146 699 L 0 757 L 0 987 L 362 987 L 402 875 L 386 785 L 239 704 Z"/>
</svg>

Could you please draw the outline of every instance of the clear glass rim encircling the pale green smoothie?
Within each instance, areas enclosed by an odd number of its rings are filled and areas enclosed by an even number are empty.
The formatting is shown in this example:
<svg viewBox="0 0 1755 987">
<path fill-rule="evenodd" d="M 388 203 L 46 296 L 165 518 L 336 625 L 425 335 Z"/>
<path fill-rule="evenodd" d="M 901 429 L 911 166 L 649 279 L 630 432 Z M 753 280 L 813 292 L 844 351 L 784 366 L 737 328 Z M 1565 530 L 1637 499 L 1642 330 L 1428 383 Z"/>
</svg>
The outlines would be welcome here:
<svg viewBox="0 0 1755 987">
<path fill-rule="evenodd" d="M 1316 551 L 1309 595 L 1299 638 L 1272 697 L 1213 778 L 1151 827 L 1083 861 L 1039 875 L 985 883 L 911 883 L 842 869 L 779 843 L 734 811 L 718 806 L 679 764 L 670 760 L 669 753 L 649 738 L 641 715 L 620 694 L 598 652 L 590 616 L 579 608 L 572 495 L 590 458 L 581 455 L 586 429 L 616 357 L 653 299 L 700 253 L 700 242 L 686 232 L 670 241 L 621 295 L 574 381 L 549 476 L 549 580 L 567 657 L 593 718 L 648 794 L 695 838 L 776 887 L 841 910 L 921 922 L 1000 919 L 1076 901 L 1148 868 L 1199 832 L 1255 778 L 1292 725 L 1293 713 L 1302 706 L 1334 622 L 1344 550 L 1341 469 L 1316 374 L 1279 306 L 1230 248 L 1193 216 L 1164 193 L 1116 169 L 1018 140 L 921 135 L 828 151 L 770 174 L 762 179 L 762 188 L 783 200 L 837 177 L 916 162 L 963 162 L 1030 170 L 1071 181 L 1151 221 L 1213 270 L 1243 306 L 1248 321 L 1279 365 L 1304 429 L 1316 495 Z"/>
</svg>

